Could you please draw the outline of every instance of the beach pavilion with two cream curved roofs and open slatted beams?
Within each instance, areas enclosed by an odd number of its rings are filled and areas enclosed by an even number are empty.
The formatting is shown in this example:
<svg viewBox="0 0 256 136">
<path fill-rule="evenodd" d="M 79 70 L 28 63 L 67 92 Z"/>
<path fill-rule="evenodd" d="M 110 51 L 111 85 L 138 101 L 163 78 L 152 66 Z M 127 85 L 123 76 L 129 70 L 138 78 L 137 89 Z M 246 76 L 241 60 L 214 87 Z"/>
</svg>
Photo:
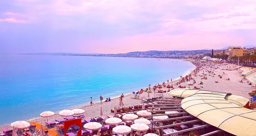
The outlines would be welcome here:
<svg viewBox="0 0 256 136">
<path fill-rule="evenodd" d="M 163 134 L 172 136 L 175 134 L 190 132 L 192 130 L 203 131 L 201 136 L 211 136 L 217 133 L 227 133 L 229 136 L 256 136 L 256 111 L 248 109 L 249 99 L 231 93 L 212 92 L 205 90 L 193 90 L 190 88 L 175 89 L 169 92 L 173 97 L 162 98 L 156 101 L 148 112 L 178 111 L 179 113 L 149 115 L 163 116 L 180 114 L 180 117 L 153 120 L 154 122 L 166 122 L 177 119 L 188 119 L 186 122 L 155 127 L 162 129 L 177 125 L 201 122 L 201 125 L 193 125 L 191 128 Z M 168 109 L 168 110 L 167 110 Z M 214 128 L 209 130 L 208 128 Z M 205 134 L 207 130 L 207 133 Z"/>
</svg>

